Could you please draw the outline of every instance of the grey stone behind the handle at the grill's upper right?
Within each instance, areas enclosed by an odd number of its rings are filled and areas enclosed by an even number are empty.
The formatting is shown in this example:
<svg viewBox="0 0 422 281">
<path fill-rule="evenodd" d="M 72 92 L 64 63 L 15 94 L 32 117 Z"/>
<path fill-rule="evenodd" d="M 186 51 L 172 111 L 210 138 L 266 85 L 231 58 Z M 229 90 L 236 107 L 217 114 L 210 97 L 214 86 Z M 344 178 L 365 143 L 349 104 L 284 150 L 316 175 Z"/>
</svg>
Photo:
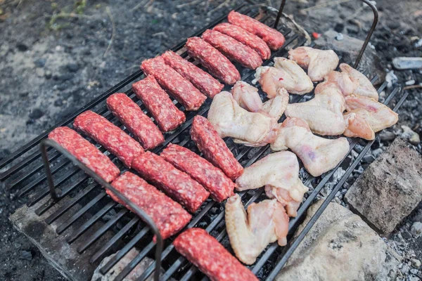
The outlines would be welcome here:
<svg viewBox="0 0 422 281">
<path fill-rule="evenodd" d="M 328 30 L 324 32 L 324 36 L 316 39 L 315 43 L 317 46 L 332 49 L 335 53 L 342 56 L 343 61 L 354 63 L 364 41 L 350 37 L 347 34 L 342 34 L 343 38 L 338 40 L 338 34 L 335 30 Z M 353 63 L 351 64 L 352 67 Z M 385 80 L 385 71 L 381 64 L 381 59 L 376 54 L 376 51 L 371 48 L 370 44 L 366 46 L 362 60 L 359 63 L 359 69 L 368 71 L 371 76 L 377 74 L 380 77 L 379 81 Z"/>
</svg>

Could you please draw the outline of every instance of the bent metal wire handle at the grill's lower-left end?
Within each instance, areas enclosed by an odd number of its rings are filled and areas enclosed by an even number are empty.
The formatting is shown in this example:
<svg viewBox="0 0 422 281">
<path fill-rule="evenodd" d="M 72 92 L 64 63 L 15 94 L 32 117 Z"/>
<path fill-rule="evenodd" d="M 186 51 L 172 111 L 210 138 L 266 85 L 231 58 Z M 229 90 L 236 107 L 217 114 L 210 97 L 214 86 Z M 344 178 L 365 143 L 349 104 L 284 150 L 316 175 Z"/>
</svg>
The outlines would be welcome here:
<svg viewBox="0 0 422 281">
<path fill-rule="evenodd" d="M 155 226 L 154 221 L 138 206 L 136 206 L 129 199 L 127 199 L 127 197 L 122 195 L 122 193 L 119 190 L 116 190 L 115 188 L 113 188 L 113 185 L 110 185 L 110 183 L 107 183 L 106 181 L 104 181 L 103 178 L 101 178 L 101 176 L 98 176 L 98 174 L 96 174 L 96 172 L 89 169 L 87 166 L 85 166 L 84 163 L 80 162 L 75 156 L 70 154 L 68 150 L 65 150 L 65 148 L 63 148 L 61 145 L 59 145 L 55 141 L 52 141 L 49 138 L 44 138 L 44 140 L 42 140 L 41 143 L 39 144 L 39 149 L 41 150 L 41 157 L 42 157 L 42 161 L 44 162 L 44 169 L 46 171 L 46 177 L 49 183 L 50 195 L 51 195 L 51 198 L 53 198 L 53 200 L 60 199 L 60 195 L 57 194 L 56 187 L 54 186 L 53 175 L 51 174 L 49 158 L 47 156 L 47 150 L 46 150 L 47 147 L 52 147 L 58 150 L 58 152 L 60 152 L 66 158 L 70 159 L 70 161 L 76 164 L 85 173 L 87 173 L 89 176 L 94 178 L 96 182 L 100 183 L 101 185 L 103 185 L 104 188 L 107 188 L 108 190 L 113 192 L 117 198 L 119 198 L 120 200 L 122 200 L 122 202 L 124 202 L 125 206 L 129 206 L 130 209 L 137 216 L 139 216 L 139 218 L 141 218 L 149 226 L 149 228 L 151 228 L 151 230 L 153 231 L 157 239 L 157 242 L 155 244 L 154 280 L 158 281 L 160 278 L 161 253 L 162 253 L 163 242 L 162 242 L 160 231 L 158 230 L 157 226 Z"/>
</svg>

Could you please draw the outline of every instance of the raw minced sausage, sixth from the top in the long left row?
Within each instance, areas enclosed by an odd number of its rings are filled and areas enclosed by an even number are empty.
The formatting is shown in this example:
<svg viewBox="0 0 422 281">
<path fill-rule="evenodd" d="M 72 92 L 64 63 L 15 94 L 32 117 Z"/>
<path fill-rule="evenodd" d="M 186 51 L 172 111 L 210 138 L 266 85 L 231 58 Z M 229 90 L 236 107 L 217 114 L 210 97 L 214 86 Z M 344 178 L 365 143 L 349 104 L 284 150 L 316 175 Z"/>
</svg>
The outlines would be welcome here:
<svg viewBox="0 0 422 281">
<path fill-rule="evenodd" d="M 143 60 L 141 69 L 147 75 L 153 75 L 158 84 L 173 96 L 186 110 L 198 110 L 207 99 L 192 83 L 172 69 L 161 57 Z"/>
</svg>

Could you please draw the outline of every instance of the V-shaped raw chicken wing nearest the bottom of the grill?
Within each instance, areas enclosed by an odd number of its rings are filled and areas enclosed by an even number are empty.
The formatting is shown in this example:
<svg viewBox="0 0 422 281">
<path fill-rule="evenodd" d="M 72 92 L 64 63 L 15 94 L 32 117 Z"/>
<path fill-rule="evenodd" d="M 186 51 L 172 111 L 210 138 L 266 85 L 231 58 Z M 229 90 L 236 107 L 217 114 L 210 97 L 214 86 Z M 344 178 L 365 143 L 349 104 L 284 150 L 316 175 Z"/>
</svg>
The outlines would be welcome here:
<svg viewBox="0 0 422 281">
<path fill-rule="evenodd" d="M 287 244 L 288 216 L 277 200 L 252 203 L 246 214 L 241 197 L 235 194 L 226 203 L 226 228 L 238 259 L 252 264 L 269 243 Z"/>
</svg>

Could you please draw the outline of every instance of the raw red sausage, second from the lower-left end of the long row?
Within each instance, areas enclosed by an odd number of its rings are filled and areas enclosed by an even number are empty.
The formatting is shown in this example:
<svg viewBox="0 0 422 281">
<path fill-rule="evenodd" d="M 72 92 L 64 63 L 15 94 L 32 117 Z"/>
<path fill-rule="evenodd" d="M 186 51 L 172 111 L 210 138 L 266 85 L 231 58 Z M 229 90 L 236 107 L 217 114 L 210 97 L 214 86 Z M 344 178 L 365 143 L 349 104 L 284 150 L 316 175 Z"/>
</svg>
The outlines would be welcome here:
<svg viewBox="0 0 422 281">
<path fill-rule="evenodd" d="M 131 136 L 91 110 L 78 115 L 73 126 L 103 145 L 129 168 L 134 157 L 143 153 L 141 145 Z"/>
</svg>

